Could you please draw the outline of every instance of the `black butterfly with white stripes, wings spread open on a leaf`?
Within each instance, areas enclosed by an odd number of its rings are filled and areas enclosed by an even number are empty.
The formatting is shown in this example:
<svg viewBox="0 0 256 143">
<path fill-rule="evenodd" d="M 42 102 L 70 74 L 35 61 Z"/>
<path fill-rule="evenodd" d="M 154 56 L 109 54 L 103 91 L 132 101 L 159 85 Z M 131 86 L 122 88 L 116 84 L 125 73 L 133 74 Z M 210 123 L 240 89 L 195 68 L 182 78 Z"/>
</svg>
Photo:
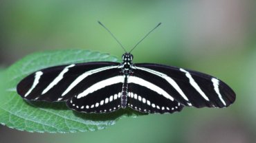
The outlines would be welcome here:
<svg viewBox="0 0 256 143">
<path fill-rule="evenodd" d="M 174 113 L 185 106 L 222 108 L 235 102 L 235 92 L 217 78 L 179 67 L 134 64 L 131 51 L 122 55 L 122 63 L 41 69 L 21 80 L 17 92 L 26 100 L 66 102 L 70 109 L 84 113 L 109 113 L 126 107 L 142 113 Z"/>
</svg>

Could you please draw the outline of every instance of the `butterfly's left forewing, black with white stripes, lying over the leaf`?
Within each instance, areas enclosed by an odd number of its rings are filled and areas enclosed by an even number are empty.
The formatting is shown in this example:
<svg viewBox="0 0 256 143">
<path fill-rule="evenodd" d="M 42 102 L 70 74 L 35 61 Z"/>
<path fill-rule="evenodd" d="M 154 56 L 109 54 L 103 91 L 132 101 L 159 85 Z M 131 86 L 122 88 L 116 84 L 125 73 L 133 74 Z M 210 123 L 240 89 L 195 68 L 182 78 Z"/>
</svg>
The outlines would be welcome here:
<svg viewBox="0 0 256 143">
<path fill-rule="evenodd" d="M 30 74 L 17 85 L 17 92 L 28 100 L 64 101 L 87 87 L 118 75 L 119 63 L 92 62 L 49 67 Z"/>
</svg>

